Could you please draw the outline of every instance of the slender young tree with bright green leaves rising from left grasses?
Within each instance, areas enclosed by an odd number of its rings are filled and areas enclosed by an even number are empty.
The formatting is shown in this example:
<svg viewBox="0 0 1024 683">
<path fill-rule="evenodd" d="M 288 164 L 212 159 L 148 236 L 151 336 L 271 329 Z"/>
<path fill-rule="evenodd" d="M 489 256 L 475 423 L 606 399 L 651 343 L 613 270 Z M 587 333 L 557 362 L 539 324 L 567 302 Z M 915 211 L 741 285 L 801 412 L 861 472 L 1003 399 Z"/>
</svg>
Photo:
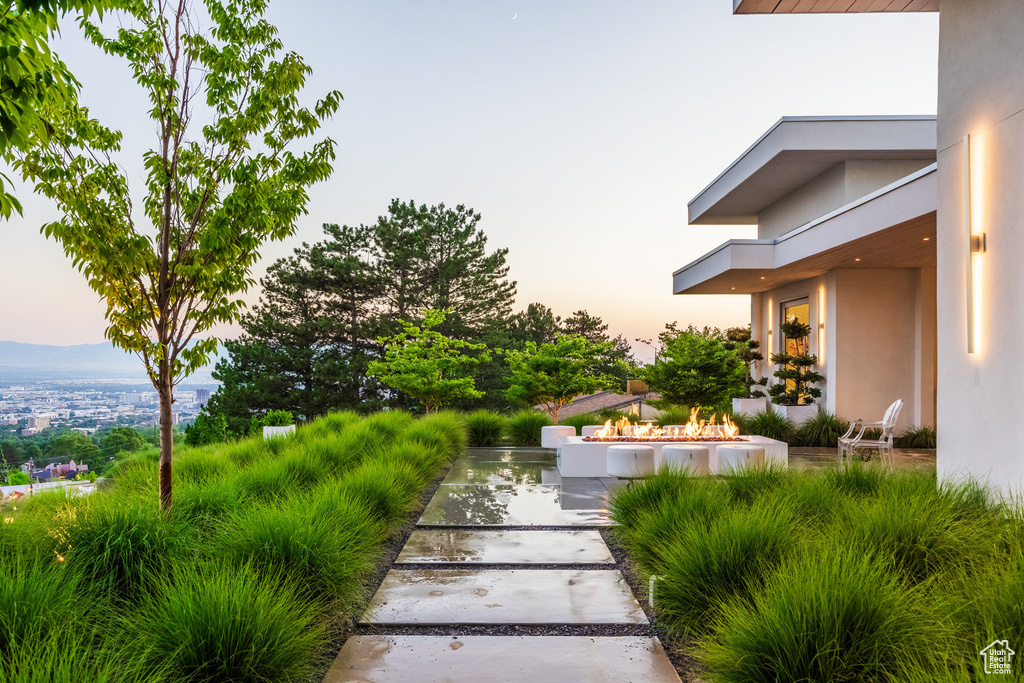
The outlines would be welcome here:
<svg viewBox="0 0 1024 683">
<path fill-rule="evenodd" d="M 331 173 L 334 142 L 292 152 L 341 94 L 299 103 L 309 68 L 282 53 L 265 0 L 125 0 L 117 25 L 88 38 L 124 59 L 148 94 L 156 145 L 143 153 L 141 206 L 118 164 L 121 134 L 70 110 L 16 168 L 63 214 L 43 226 L 106 303 L 106 337 L 142 359 L 160 395 L 160 505 L 172 502 L 174 387 L 208 361 L 267 240 L 295 230 L 306 188 Z"/>
</svg>

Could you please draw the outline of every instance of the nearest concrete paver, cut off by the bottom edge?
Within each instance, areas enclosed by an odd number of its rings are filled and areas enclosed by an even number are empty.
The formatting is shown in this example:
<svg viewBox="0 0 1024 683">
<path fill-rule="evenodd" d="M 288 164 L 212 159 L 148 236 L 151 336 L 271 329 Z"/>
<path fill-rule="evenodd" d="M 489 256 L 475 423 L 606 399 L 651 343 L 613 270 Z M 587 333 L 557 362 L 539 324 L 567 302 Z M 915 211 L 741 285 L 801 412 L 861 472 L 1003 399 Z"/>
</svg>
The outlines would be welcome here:
<svg viewBox="0 0 1024 683">
<path fill-rule="evenodd" d="M 679 683 L 657 638 L 355 636 L 324 683 Z"/>
</svg>

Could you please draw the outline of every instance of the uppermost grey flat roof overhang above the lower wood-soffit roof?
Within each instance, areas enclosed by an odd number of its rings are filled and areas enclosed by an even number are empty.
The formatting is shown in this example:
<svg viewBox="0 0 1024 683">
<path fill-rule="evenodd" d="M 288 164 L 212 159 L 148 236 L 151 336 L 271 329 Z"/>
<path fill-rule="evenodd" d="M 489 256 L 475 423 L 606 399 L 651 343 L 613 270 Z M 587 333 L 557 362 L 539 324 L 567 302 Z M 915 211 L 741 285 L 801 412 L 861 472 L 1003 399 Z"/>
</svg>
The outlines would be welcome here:
<svg viewBox="0 0 1024 683">
<path fill-rule="evenodd" d="M 844 161 L 936 159 L 934 116 L 782 117 L 687 205 L 690 224 L 752 225 Z"/>
</svg>

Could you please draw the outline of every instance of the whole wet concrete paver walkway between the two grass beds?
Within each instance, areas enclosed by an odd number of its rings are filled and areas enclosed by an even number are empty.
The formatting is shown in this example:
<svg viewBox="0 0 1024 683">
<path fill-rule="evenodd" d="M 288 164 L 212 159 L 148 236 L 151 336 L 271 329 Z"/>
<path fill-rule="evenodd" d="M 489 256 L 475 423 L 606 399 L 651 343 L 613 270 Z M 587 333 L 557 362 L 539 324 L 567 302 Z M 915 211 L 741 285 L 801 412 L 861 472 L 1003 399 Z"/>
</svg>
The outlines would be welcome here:
<svg viewBox="0 0 1024 683">
<path fill-rule="evenodd" d="M 615 480 L 554 465 L 460 458 L 324 683 L 679 683 L 595 530 Z"/>
</svg>

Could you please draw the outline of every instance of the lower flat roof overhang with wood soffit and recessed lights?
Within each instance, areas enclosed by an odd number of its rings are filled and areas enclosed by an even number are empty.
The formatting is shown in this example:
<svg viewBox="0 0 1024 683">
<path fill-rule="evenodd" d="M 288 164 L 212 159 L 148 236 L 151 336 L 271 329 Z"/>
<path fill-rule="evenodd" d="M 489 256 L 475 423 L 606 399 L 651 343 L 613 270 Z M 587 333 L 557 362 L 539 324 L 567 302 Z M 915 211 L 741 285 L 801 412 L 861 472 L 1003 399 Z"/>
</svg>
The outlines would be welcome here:
<svg viewBox="0 0 1024 683">
<path fill-rule="evenodd" d="M 672 293 L 754 294 L 834 268 L 934 266 L 935 169 L 932 164 L 774 240 L 730 240 L 674 272 Z"/>
</svg>

